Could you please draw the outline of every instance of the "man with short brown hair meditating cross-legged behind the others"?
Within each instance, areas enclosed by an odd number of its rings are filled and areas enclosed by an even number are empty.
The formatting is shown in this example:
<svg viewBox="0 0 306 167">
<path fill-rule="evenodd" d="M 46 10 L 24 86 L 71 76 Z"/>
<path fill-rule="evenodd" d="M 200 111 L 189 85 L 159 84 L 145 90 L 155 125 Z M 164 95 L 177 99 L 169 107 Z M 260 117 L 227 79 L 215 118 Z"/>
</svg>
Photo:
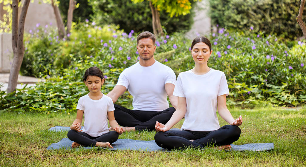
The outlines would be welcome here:
<svg viewBox="0 0 306 167">
<path fill-rule="evenodd" d="M 115 119 L 124 131 L 155 130 L 155 122 L 167 123 L 177 106 L 173 96 L 176 76 L 174 71 L 154 59 L 156 37 L 145 31 L 137 37 L 139 62 L 126 68 L 118 83 L 107 96 L 115 103 L 126 89 L 133 96 L 133 110 L 114 104 Z M 169 108 L 169 96 L 173 107 Z"/>
</svg>

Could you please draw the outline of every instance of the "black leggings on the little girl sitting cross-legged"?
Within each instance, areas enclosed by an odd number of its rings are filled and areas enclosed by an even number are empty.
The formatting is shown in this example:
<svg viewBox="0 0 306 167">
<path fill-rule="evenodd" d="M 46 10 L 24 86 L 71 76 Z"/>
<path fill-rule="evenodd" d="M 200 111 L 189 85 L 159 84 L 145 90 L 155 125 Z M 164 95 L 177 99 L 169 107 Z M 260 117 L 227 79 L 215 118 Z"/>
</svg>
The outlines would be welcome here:
<svg viewBox="0 0 306 167">
<path fill-rule="evenodd" d="M 116 131 L 110 131 L 104 133 L 101 136 L 92 137 L 84 132 L 77 132 L 75 130 L 69 130 L 67 133 L 69 140 L 79 143 L 83 146 L 95 146 L 97 141 L 99 142 L 109 142 L 110 144 L 118 140 L 118 133 Z"/>
</svg>

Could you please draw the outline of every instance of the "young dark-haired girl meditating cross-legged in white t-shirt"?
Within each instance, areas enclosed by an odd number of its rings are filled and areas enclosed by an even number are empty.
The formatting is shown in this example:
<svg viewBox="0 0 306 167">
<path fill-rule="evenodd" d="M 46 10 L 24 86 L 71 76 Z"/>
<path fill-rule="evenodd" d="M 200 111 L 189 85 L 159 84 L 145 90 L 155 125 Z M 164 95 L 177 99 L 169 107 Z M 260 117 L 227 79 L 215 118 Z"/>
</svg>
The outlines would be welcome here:
<svg viewBox="0 0 306 167">
<path fill-rule="evenodd" d="M 80 97 L 77 103 L 76 120 L 67 134 L 69 140 L 74 141 L 71 147 L 75 148 L 81 144 L 113 148 L 111 143 L 118 140 L 118 134 L 122 134 L 123 129 L 114 118 L 115 108 L 112 99 L 101 93 L 101 86 L 105 81 L 103 73 L 98 67 L 90 67 L 85 71 L 83 81 L 89 93 Z M 84 129 L 81 130 L 83 114 Z M 109 132 L 107 117 L 115 131 Z"/>
</svg>

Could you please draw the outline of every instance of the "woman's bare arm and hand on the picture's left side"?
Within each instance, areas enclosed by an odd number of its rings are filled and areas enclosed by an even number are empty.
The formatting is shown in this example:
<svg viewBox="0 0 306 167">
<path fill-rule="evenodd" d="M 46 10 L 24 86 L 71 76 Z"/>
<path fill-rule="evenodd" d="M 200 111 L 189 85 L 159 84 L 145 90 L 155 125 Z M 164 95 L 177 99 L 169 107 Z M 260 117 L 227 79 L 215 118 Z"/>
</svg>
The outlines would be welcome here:
<svg viewBox="0 0 306 167">
<path fill-rule="evenodd" d="M 157 132 L 165 132 L 168 131 L 172 126 L 174 126 L 177 122 L 181 121 L 181 119 L 185 116 L 187 109 L 186 98 L 185 97 L 177 97 L 177 109 L 173 113 L 170 120 L 166 123 L 166 125 L 159 123 L 158 121 L 155 124 L 155 129 Z"/>
</svg>

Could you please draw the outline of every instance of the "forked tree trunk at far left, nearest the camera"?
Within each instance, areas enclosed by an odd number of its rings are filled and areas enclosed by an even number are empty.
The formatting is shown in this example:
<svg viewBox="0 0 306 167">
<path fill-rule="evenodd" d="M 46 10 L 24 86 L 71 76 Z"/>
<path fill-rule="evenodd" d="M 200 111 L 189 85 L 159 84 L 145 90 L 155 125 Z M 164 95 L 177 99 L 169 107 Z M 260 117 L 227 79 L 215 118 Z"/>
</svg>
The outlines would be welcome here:
<svg viewBox="0 0 306 167">
<path fill-rule="evenodd" d="M 31 0 L 25 0 L 21 9 L 21 14 L 18 23 L 18 1 L 13 0 L 13 17 L 12 17 L 12 48 L 13 48 L 13 63 L 9 73 L 9 84 L 7 87 L 7 93 L 12 93 L 16 90 L 18 74 L 20 71 L 21 63 L 24 56 L 24 44 L 23 44 L 23 33 L 24 33 L 24 22 L 25 16 L 28 12 L 28 7 Z"/>
</svg>

